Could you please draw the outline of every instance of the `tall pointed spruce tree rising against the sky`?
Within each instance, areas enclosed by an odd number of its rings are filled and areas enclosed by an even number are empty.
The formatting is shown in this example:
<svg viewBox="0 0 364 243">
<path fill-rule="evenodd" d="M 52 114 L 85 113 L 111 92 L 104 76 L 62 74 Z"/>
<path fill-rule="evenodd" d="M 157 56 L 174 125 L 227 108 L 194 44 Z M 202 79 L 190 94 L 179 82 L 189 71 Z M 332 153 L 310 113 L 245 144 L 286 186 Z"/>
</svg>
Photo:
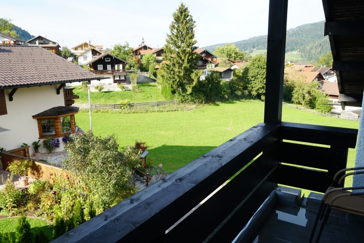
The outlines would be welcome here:
<svg viewBox="0 0 364 243">
<path fill-rule="evenodd" d="M 161 65 L 162 83 L 173 89 L 174 94 L 191 94 L 199 80 L 197 61 L 201 58 L 194 52 L 195 21 L 185 4 L 181 3 L 173 13 L 173 21 L 169 26 Z"/>
</svg>

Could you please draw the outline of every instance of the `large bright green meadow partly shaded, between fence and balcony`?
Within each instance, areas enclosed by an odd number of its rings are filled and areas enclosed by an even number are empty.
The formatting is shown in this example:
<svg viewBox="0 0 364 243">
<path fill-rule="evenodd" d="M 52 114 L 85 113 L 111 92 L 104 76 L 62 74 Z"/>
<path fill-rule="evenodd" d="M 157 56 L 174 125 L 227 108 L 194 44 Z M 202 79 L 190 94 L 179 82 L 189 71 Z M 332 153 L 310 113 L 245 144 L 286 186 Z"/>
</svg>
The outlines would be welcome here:
<svg viewBox="0 0 364 243">
<path fill-rule="evenodd" d="M 150 146 L 154 165 L 173 172 L 211 149 L 263 121 L 264 104 L 259 101 L 229 101 L 190 111 L 151 113 L 93 113 L 93 132 L 115 134 L 120 146 L 135 140 Z M 297 123 L 357 129 L 357 121 L 325 117 L 283 106 L 283 120 Z M 81 128 L 89 128 L 88 113 L 76 114 Z M 349 149 L 349 165 L 355 150 Z"/>
</svg>

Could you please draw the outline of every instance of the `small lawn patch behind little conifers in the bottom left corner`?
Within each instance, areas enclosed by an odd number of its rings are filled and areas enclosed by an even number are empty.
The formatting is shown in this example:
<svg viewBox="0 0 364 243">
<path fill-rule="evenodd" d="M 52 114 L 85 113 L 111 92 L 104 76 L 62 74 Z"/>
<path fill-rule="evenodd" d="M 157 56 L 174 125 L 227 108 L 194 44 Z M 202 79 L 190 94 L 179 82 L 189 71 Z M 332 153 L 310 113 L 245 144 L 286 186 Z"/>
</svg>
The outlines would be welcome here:
<svg viewBox="0 0 364 243">
<path fill-rule="evenodd" d="M 33 233 L 33 235 L 38 230 L 42 229 L 44 231 L 44 234 L 47 235 L 49 239 L 52 239 L 52 227 L 50 227 L 49 223 L 41 219 L 27 218 L 27 220 L 29 220 L 31 232 Z M 17 222 L 18 218 L 0 219 L 0 232 L 8 233 L 9 231 L 13 238 L 13 242 L 15 242 L 15 228 L 17 226 Z"/>
</svg>

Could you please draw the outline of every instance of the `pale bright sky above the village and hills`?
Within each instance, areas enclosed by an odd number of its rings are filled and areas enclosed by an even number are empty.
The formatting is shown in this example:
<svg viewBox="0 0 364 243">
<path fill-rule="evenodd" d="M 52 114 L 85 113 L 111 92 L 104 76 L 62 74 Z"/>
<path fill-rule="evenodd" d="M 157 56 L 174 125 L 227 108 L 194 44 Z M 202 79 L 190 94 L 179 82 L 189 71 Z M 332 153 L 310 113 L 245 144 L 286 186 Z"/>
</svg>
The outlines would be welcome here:
<svg viewBox="0 0 364 243">
<path fill-rule="evenodd" d="M 185 0 L 196 21 L 197 46 L 241 41 L 267 33 L 268 0 Z M 104 48 L 127 41 L 137 47 L 162 47 L 179 6 L 175 0 L 2 1 L 0 18 L 33 35 L 47 35 L 72 48 L 91 41 Z M 287 29 L 325 19 L 322 1 L 290 0 Z"/>
</svg>

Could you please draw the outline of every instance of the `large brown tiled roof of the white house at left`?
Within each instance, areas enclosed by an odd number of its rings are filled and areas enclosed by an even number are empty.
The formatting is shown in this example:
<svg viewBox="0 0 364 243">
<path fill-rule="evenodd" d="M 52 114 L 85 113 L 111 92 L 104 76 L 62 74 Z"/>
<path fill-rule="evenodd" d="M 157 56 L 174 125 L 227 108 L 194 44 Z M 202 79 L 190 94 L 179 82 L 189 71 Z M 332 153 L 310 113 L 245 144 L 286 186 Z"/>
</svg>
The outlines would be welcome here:
<svg viewBox="0 0 364 243">
<path fill-rule="evenodd" d="M 41 47 L 0 46 L 0 89 L 103 79 Z"/>
</svg>

